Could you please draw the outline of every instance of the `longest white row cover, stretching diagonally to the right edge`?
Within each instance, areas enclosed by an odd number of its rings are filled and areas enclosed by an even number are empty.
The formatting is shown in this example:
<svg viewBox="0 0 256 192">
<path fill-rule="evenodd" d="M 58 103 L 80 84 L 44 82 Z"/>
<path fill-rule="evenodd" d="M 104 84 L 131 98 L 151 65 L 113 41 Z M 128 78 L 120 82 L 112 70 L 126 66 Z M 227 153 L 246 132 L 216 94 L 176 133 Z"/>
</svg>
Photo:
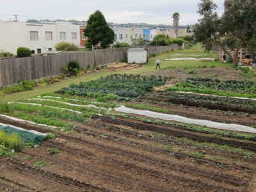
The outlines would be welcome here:
<svg viewBox="0 0 256 192">
<path fill-rule="evenodd" d="M 115 108 L 115 110 L 123 113 L 132 113 L 137 115 L 148 116 L 151 118 L 158 118 L 161 120 L 182 122 L 186 124 L 197 124 L 197 125 L 202 125 L 202 126 L 207 126 L 207 127 L 217 128 L 217 129 L 225 129 L 230 131 L 243 131 L 243 132 L 256 133 L 256 129 L 252 127 L 244 126 L 244 125 L 238 125 L 238 124 L 223 124 L 219 122 L 211 122 L 209 120 L 197 120 L 192 118 L 186 118 L 180 115 L 170 115 L 170 114 L 157 113 L 157 112 L 148 111 L 148 110 L 131 109 L 131 108 L 126 108 L 125 106 Z"/>
</svg>

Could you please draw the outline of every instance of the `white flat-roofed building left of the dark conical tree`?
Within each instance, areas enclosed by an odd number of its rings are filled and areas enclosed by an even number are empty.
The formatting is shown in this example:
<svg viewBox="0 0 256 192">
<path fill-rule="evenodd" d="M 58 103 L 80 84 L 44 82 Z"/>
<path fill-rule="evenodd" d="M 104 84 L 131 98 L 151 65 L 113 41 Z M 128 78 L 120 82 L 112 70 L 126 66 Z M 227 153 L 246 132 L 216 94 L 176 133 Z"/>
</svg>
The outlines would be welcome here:
<svg viewBox="0 0 256 192">
<path fill-rule="evenodd" d="M 32 53 L 55 51 L 58 42 L 80 45 L 80 29 L 68 22 L 29 20 L 0 22 L 0 50 L 17 53 L 18 47 L 28 47 Z"/>
</svg>

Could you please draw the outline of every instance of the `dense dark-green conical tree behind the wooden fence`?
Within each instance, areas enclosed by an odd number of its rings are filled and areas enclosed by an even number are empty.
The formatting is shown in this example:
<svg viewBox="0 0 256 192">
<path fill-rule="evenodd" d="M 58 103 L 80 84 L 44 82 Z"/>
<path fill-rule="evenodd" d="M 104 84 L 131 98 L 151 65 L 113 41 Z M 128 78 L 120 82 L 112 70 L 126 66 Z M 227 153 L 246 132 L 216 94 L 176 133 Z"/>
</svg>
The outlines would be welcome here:
<svg viewBox="0 0 256 192">
<path fill-rule="evenodd" d="M 84 29 L 84 35 L 88 36 L 85 45 L 88 48 L 91 48 L 92 45 L 100 45 L 102 48 L 107 48 L 115 40 L 113 29 L 109 28 L 104 15 L 99 10 L 90 15 Z"/>
</svg>

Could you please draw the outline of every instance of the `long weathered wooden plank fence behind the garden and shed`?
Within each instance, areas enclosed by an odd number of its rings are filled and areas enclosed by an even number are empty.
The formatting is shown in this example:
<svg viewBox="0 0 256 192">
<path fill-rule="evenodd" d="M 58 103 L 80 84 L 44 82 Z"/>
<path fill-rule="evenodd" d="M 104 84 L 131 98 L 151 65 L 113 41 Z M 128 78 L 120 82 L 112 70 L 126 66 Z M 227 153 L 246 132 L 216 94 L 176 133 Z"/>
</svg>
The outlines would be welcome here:
<svg viewBox="0 0 256 192">
<path fill-rule="evenodd" d="M 77 61 L 80 67 L 120 63 L 127 60 L 127 49 L 97 49 L 83 52 L 61 52 L 45 56 L 31 56 L 28 58 L 8 58 L 0 60 L 0 87 L 19 84 L 26 80 L 37 80 L 44 77 L 57 76 L 62 73 L 61 68 L 70 61 Z M 148 54 L 161 53 L 179 49 L 177 44 L 170 46 L 147 47 Z"/>
</svg>

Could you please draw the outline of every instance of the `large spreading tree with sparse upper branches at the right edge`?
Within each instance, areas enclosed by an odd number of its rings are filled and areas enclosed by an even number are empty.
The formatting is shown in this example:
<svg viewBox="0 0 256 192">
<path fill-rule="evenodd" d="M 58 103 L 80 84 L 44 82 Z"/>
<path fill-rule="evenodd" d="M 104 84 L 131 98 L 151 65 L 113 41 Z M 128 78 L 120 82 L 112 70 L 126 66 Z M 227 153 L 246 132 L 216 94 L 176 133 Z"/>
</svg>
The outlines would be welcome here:
<svg viewBox="0 0 256 192">
<path fill-rule="evenodd" d="M 196 39 L 202 41 L 206 51 L 211 50 L 213 44 L 220 45 L 236 64 L 239 50 L 255 33 L 255 0 L 225 0 L 221 17 L 212 0 L 201 0 L 198 8 L 201 18 L 195 25 Z M 236 49 L 236 54 L 230 55 L 227 47 Z"/>
</svg>

